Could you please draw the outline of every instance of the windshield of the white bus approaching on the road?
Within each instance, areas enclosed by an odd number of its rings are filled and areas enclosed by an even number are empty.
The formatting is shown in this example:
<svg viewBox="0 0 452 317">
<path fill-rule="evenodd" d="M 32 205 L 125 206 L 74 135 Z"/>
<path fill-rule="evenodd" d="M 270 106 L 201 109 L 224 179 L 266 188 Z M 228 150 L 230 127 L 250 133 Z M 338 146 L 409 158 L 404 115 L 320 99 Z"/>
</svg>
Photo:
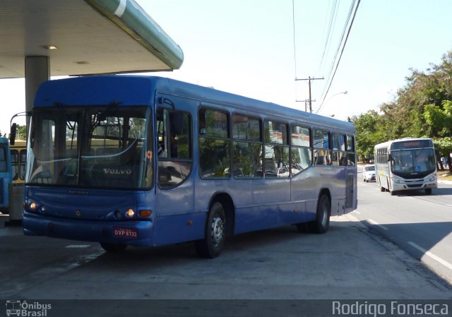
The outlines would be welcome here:
<svg viewBox="0 0 452 317">
<path fill-rule="evenodd" d="M 436 169 L 432 148 L 396 150 L 391 152 L 394 174 L 429 174 Z"/>
</svg>

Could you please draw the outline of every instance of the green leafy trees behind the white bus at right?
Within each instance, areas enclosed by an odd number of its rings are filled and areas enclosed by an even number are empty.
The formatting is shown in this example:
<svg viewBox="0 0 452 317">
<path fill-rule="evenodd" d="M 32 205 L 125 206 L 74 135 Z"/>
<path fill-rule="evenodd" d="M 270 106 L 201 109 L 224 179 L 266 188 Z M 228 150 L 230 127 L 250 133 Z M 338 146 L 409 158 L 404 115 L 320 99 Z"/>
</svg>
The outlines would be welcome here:
<svg viewBox="0 0 452 317">
<path fill-rule="evenodd" d="M 405 137 L 434 138 L 441 155 L 452 151 L 452 51 L 425 72 L 410 71 L 393 102 L 353 118 L 361 157 L 369 157 L 377 143 Z"/>
</svg>

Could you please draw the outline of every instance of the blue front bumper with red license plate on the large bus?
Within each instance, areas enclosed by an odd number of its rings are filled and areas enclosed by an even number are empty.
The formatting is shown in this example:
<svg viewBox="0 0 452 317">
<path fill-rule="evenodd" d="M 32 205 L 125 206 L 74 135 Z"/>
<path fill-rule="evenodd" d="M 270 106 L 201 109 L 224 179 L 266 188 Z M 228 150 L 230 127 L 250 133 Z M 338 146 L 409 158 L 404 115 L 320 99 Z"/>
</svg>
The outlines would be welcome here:
<svg viewBox="0 0 452 317">
<path fill-rule="evenodd" d="M 153 222 L 59 219 L 33 213 L 23 213 L 23 233 L 80 241 L 95 241 L 130 246 L 153 246 Z"/>
</svg>

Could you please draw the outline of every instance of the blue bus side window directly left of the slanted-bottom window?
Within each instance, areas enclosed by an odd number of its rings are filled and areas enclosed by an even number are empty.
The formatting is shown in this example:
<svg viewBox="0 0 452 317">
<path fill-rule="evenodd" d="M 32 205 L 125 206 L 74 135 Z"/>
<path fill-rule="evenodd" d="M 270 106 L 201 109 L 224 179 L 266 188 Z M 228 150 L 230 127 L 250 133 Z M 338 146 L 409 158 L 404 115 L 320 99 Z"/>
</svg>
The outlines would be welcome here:
<svg viewBox="0 0 452 317">
<path fill-rule="evenodd" d="M 267 178 L 290 177 L 287 124 L 266 120 L 265 167 Z"/>
</svg>

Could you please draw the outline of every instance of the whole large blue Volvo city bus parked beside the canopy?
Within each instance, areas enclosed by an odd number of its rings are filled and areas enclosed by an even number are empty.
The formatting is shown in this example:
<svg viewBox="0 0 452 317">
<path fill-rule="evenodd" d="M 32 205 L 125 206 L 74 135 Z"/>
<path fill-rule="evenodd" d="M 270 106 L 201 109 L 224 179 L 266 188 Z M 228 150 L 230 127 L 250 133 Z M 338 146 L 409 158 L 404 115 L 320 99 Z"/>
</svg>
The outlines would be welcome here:
<svg viewBox="0 0 452 317">
<path fill-rule="evenodd" d="M 35 96 L 23 231 L 106 251 L 278 226 L 324 233 L 357 208 L 355 126 L 153 76 L 50 80 Z"/>
</svg>

